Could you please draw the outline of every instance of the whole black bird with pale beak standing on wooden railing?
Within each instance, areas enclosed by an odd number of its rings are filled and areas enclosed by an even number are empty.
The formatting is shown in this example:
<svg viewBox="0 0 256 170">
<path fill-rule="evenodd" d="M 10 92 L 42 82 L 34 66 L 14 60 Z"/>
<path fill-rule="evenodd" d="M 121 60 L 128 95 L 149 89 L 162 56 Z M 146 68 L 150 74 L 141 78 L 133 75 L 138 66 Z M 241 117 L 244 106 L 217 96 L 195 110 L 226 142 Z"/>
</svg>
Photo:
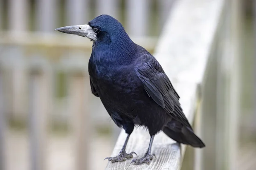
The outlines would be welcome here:
<svg viewBox="0 0 256 170">
<path fill-rule="evenodd" d="M 135 164 L 150 164 L 154 154 L 151 146 L 155 134 L 163 130 L 175 141 L 192 147 L 204 143 L 192 130 L 175 91 L 163 68 L 145 48 L 135 44 L 122 24 L 109 15 L 100 15 L 88 25 L 55 29 L 76 34 L 93 41 L 89 60 L 90 86 L 118 127 L 128 134 L 112 162 L 132 158 L 125 148 L 135 125 L 144 126 L 151 136 L 148 150 Z"/>
</svg>

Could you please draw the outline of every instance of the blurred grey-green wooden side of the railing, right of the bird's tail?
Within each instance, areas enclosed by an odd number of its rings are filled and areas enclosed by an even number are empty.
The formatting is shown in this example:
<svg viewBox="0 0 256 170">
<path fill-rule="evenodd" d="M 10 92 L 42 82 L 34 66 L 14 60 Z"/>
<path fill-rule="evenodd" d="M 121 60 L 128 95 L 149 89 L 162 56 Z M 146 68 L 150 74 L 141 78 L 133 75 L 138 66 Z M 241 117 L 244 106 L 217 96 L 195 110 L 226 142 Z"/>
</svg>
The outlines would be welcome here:
<svg viewBox="0 0 256 170">
<path fill-rule="evenodd" d="M 224 4 L 202 89 L 201 136 L 210 147 L 201 151 L 199 170 L 236 170 L 240 110 L 239 0 Z"/>
</svg>

